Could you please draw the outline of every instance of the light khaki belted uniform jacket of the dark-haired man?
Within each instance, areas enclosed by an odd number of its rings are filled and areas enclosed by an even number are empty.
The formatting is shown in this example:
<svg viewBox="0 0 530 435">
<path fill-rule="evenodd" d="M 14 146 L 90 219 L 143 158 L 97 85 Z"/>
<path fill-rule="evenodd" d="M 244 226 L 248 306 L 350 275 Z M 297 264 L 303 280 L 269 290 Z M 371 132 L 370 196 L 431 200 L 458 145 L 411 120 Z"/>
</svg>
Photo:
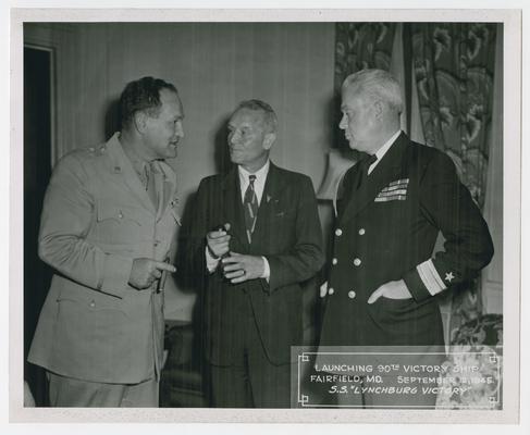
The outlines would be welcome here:
<svg viewBox="0 0 530 435">
<path fill-rule="evenodd" d="M 163 261 L 172 251 L 176 178 L 167 163 L 160 169 L 157 210 L 118 134 L 58 163 L 39 234 L 39 256 L 56 274 L 29 362 L 93 382 L 158 377 L 163 293 L 156 285 L 139 291 L 127 282 L 135 258 Z"/>
</svg>

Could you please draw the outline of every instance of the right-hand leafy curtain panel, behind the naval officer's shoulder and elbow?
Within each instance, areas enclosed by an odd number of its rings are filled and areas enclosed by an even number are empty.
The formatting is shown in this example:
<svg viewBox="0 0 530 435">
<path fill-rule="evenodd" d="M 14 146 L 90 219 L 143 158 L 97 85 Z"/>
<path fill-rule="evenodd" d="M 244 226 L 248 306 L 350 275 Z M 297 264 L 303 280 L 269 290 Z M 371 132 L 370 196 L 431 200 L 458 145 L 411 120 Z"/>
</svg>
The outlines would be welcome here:
<svg viewBox="0 0 530 435">
<path fill-rule="evenodd" d="M 492 121 L 495 24 L 411 24 L 426 144 L 446 152 L 483 209 Z M 482 312 L 480 279 L 452 294 L 449 336 Z"/>
</svg>

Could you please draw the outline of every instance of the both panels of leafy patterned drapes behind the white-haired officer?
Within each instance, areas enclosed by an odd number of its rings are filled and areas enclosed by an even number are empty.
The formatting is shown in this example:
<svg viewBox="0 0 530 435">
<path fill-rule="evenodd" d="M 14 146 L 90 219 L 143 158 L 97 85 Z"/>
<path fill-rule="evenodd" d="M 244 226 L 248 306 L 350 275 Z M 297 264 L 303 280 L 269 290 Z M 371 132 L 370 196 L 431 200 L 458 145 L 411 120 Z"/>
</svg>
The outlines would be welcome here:
<svg viewBox="0 0 530 435">
<path fill-rule="evenodd" d="M 396 26 L 403 26 L 400 32 Z M 428 146 L 452 158 L 481 209 L 490 152 L 495 37 L 493 23 L 336 24 L 335 89 L 356 71 L 390 71 L 400 63 L 398 71 L 408 74 L 400 80 L 407 92 L 407 115 L 412 117 L 409 125 L 418 125 Z M 402 59 L 392 59 L 393 54 Z M 446 326 L 454 333 L 482 312 L 479 279 L 449 297 Z"/>
</svg>

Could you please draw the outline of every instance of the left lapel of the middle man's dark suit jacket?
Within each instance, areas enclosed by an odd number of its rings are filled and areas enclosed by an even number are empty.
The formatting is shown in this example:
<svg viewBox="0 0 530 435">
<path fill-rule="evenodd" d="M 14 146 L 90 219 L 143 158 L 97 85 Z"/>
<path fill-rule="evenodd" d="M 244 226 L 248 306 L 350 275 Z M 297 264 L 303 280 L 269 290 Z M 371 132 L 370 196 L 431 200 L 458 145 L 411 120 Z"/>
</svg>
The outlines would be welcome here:
<svg viewBox="0 0 530 435">
<path fill-rule="evenodd" d="M 234 166 L 224 177 L 222 185 L 223 201 L 223 222 L 231 224 L 230 234 L 236 244 L 231 244 L 231 250 L 248 252 L 248 240 L 245 227 L 245 216 L 243 214 L 243 201 L 239 187 L 239 176 L 237 166 Z M 238 249 L 242 247 L 242 249 Z"/>
</svg>

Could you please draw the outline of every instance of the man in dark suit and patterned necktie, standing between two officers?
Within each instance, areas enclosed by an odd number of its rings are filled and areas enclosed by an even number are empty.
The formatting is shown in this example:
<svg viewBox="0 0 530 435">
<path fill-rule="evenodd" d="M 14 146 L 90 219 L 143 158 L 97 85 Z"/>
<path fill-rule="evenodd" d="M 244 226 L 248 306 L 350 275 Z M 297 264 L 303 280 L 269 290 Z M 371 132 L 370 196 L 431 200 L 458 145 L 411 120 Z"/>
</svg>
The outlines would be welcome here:
<svg viewBox="0 0 530 435">
<path fill-rule="evenodd" d="M 309 177 L 275 166 L 276 115 L 242 102 L 229 122 L 235 166 L 201 181 L 192 261 L 207 278 L 207 358 L 215 407 L 289 407 L 291 346 L 303 344 L 300 284 L 322 266 Z"/>
</svg>

